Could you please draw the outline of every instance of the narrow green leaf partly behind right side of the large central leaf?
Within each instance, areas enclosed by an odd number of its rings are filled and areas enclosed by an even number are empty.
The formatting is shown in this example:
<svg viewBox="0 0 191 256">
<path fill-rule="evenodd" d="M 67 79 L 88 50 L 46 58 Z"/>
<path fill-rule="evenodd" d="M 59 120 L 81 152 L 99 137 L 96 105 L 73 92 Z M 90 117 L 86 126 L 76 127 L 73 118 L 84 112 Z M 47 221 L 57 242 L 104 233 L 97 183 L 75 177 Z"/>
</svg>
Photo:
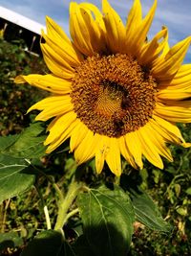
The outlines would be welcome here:
<svg viewBox="0 0 191 256">
<path fill-rule="evenodd" d="M 130 189 L 130 197 L 132 198 L 137 221 L 154 230 L 171 231 L 170 224 L 162 219 L 158 207 L 145 192 Z"/>
</svg>

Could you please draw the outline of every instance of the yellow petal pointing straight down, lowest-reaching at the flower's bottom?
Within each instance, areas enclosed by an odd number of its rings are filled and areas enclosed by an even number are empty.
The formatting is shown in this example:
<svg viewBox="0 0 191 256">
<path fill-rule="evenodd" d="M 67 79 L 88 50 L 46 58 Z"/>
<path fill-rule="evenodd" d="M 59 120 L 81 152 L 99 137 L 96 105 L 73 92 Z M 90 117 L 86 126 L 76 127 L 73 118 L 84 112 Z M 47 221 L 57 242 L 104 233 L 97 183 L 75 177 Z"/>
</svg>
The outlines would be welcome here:
<svg viewBox="0 0 191 256">
<path fill-rule="evenodd" d="M 117 176 L 121 175 L 120 151 L 117 138 L 107 138 L 109 150 L 106 154 L 106 162 L 111 172 Z"/>
</svg>

